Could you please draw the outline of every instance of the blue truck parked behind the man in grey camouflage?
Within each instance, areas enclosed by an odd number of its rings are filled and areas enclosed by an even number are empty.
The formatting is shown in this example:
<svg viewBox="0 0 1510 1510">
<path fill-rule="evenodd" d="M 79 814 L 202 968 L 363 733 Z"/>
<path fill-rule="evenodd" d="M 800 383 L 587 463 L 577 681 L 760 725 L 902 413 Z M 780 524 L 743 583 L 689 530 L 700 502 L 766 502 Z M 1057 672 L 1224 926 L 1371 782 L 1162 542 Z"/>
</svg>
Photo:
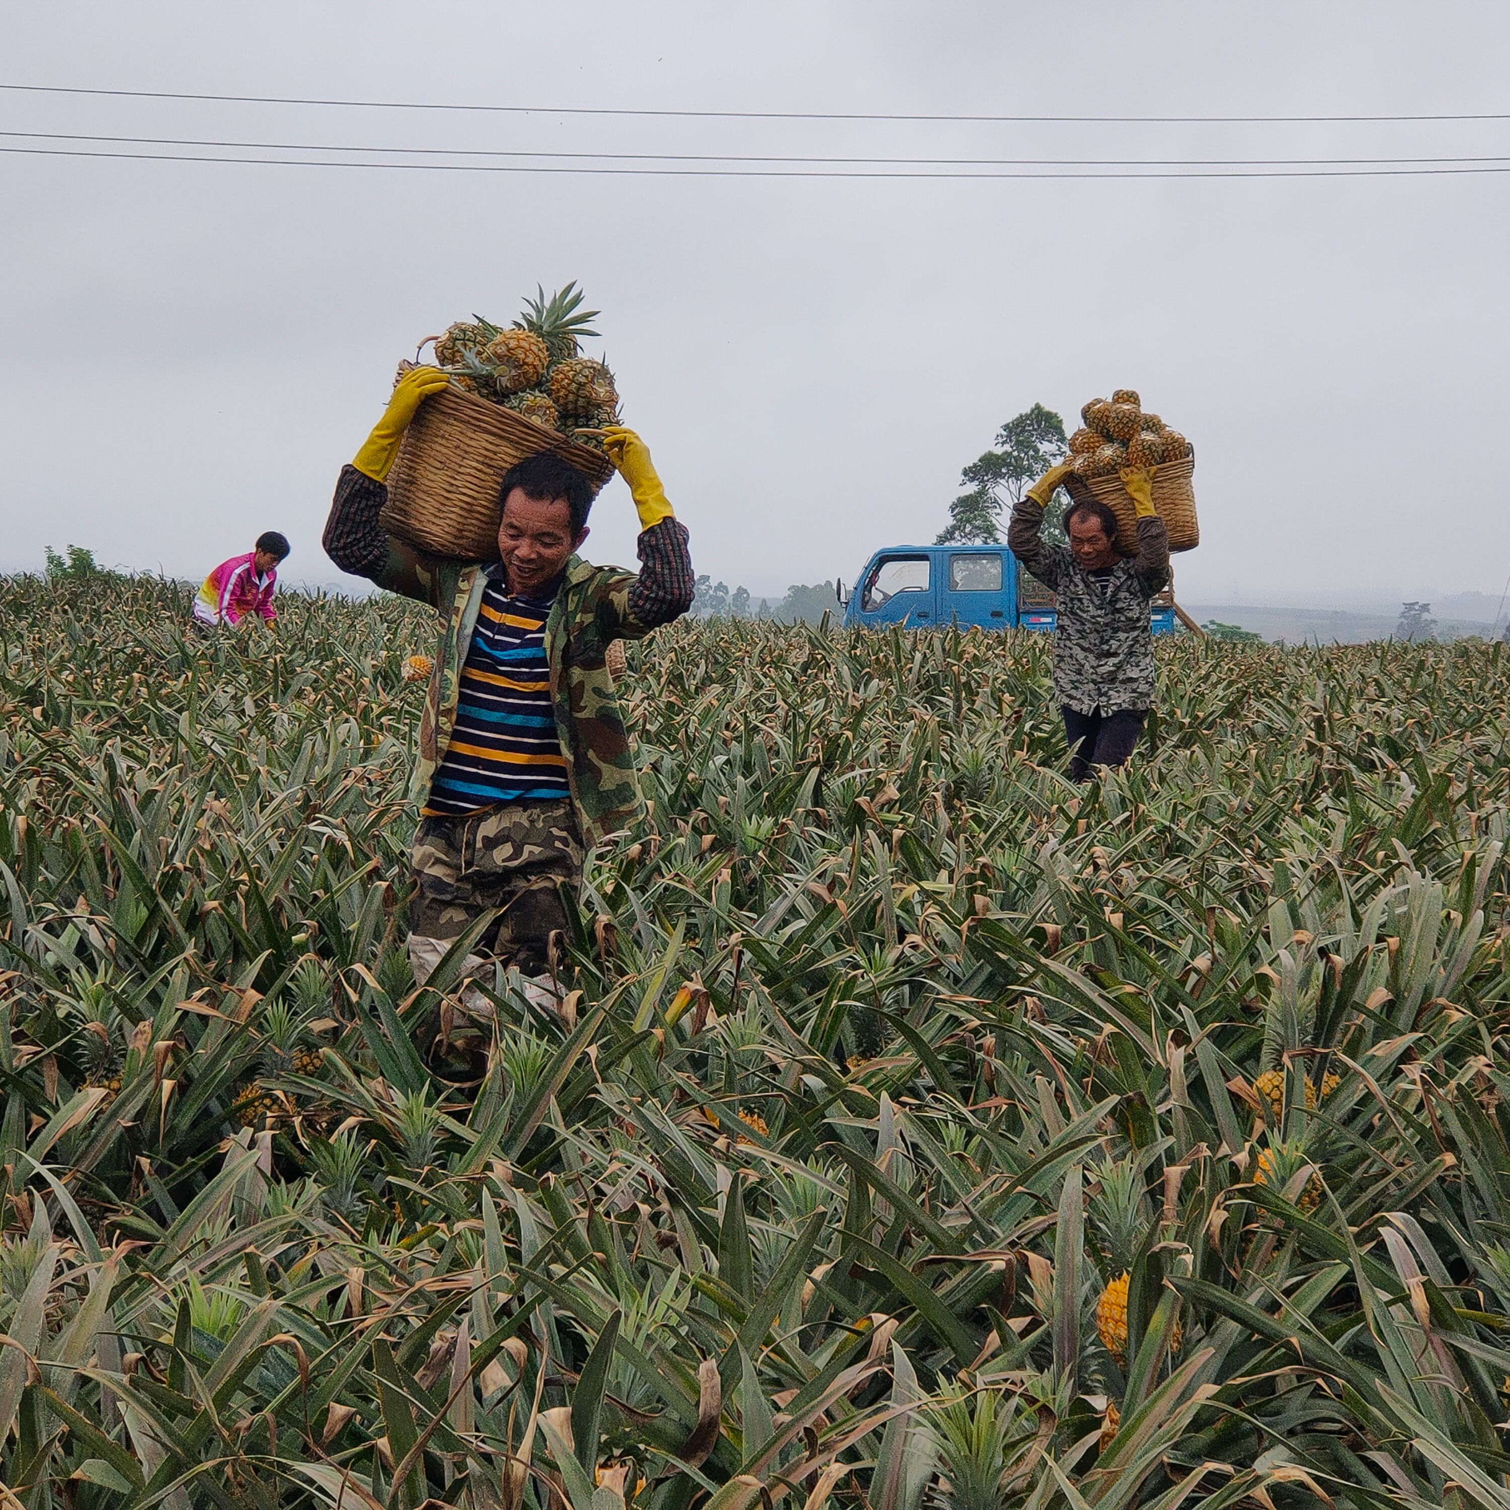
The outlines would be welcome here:
<svg viewBox="0 0 1510 1510">
<path fill-rule="evenodd" d="M 892 545 L 876 551 L 853 592 L 838 583 L 844 628 L 1054 628 L 1054 593 L 1006 545 Z M 1152 604 L 1155 634 L 1175 633 L 1173 589 Z"/>
</svg>

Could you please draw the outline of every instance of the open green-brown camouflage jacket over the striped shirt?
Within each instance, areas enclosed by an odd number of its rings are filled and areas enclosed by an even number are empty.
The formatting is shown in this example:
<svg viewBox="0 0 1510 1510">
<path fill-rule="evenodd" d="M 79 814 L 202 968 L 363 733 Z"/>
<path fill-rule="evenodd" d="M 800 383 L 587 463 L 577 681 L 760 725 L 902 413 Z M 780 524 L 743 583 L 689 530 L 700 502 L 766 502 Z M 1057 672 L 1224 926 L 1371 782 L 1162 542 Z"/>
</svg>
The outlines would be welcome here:
<svg viewBox="0 0 1510 1510">
<path fill-rule="evenodd" d="M 394 539 L 378 521 L 387 497 L 381 482 L 343 467 L 325 524 L 325 550 L 341 571 L 444 615 L 411 787 L 423 802 L 456 725 L 459 675 L 477 624 L 486 566 L 430 556 Z M 604 660 L 607 648 L 613 640 L 642 639 L 692 607 L 686 527 L 676 519 L 652 525 L 639 539 L 639 575 L 572 556 L 545 621 L 556 732 L 589 846 L 622 829 L 640 811 L 630 735 Z"/>
</svg>

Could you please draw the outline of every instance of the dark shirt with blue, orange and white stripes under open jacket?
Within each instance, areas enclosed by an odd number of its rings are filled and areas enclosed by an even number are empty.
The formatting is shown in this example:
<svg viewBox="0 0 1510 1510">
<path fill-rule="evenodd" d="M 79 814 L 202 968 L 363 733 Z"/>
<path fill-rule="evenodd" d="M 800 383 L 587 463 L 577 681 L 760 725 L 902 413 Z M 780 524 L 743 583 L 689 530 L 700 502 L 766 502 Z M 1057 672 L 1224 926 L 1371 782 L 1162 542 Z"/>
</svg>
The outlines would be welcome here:
<svg viewBox="0 0 1510 1510">
<path fill-rule="evenodd" d="M 550 599 L 515 598 L 489 577 L 461 672 L 456 728 L 424 817 L 456 817 L 498 802 L 571 796 L 556 734 L 545 618 Z"/>
</svg>

